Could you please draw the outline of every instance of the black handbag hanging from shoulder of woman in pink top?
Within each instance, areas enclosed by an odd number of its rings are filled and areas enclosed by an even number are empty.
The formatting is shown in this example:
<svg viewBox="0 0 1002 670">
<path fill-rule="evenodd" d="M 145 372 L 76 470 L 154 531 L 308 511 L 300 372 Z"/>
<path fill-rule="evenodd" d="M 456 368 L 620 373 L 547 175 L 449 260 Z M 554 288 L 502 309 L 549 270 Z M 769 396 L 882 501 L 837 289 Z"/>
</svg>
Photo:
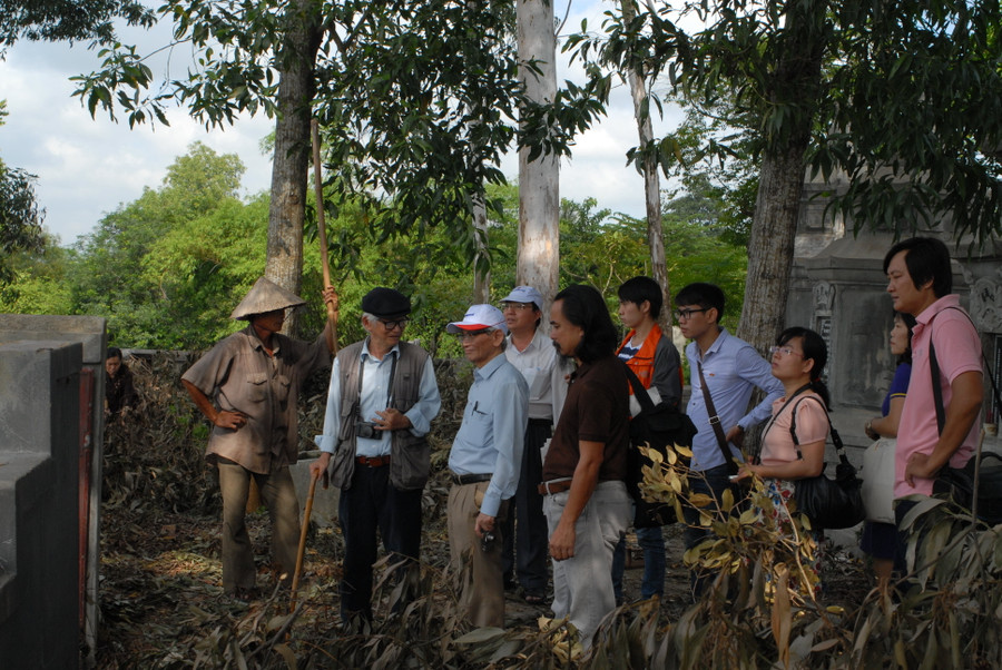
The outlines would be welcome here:
<svg viewBox="0 0 1002 670">
<path fill-rule="evenodd" d="M 812 398 L 800 398 L 794 405 L 789 422 L 789 434 L 793 436 L 794 446 L 797 450 L 797 459 L 804 457 L 800 454 L 800 441 L 797 439 L 797 405 L 805 400 Z M 853 528 L 866 519 L 866 508 L 863 505 L 861 491 L 863 482 L 856 476 L 856 469 L 845 455 L 845 446 L 838 431 L 832 425 L 827 407 L 821 401 L 818 404 L 825 411 L 828 432 L 835 444 L 835 453 L 838 454 L 835 480 L 829 480 L 824 469 L 817 476 L 796 480 L 794 500 L 797 509 L 807 514 L 811 525 L 816 530 Z"/>
</svg>

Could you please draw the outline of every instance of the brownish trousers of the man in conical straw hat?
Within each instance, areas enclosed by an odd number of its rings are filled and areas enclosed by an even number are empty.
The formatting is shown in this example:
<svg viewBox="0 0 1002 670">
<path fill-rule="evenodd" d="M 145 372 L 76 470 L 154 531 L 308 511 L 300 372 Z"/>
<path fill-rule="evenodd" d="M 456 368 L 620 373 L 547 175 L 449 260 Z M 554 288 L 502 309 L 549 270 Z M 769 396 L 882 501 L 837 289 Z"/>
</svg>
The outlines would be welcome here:
<svg viewBox="0 0 1002 670">
<path fill-rule="evenodd" d="M 257 474 L 232 461 L 219 461 L 219 489 L 223 493 L 223 590 L 252 589 L 257 582 L 254 548 L 244 515 L 250 491 L 250 477 L 257 482 L 261 497 L 272 521 L 272 560 L 292 582 L 299 548 L 299 503 L 288 466 L 271 474 Z"/>
</svg>

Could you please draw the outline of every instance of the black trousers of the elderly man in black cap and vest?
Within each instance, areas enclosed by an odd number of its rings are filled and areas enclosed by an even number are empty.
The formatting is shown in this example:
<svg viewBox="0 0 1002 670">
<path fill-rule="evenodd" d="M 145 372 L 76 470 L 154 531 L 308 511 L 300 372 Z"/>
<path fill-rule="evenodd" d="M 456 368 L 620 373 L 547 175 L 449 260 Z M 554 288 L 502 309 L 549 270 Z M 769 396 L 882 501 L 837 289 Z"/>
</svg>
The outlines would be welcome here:
<svg viewBox="0 0 1002 670">
<path fill-rule="evenodd" d="M 416 562 L 421 552 L 421 489 L 400 491 L 390 483 L 390 466 L 355 466 L 351 489 L 337 506 L 344 533 L 341 617 L 372 619 L 372 565 L 376 529 L 387 553 Z"/>
</svg>

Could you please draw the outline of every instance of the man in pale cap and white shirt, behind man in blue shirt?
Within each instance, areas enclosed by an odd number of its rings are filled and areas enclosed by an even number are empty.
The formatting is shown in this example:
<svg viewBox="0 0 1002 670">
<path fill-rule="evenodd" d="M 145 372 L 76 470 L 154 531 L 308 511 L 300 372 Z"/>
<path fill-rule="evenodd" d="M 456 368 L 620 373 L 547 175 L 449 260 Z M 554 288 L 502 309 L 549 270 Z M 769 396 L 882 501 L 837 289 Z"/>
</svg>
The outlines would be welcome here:
<svg viewBox="0 0 1002 670">
<path fill-rule="evenodd" d="M 542 495 L 537 487 L 542 482 L 541 450 L 552 434 L 553 422 L 560 416 L 567 397 L 564 377 L 571 372 L 571 366 L 563 364 L 550 338 L 539 327 L 543 318 L 542 305 L 542 296 L 531 286 L 515 286 L 501 299 L 501 312 L 509 332 L 504 355 L 529 385 L 525 449 L 519 487 L 504 522 L 501 559 L 504 588 L 521 587 L 529 604 L 546 603 L 549 533 L 542 512 Z"/>
</svg>

